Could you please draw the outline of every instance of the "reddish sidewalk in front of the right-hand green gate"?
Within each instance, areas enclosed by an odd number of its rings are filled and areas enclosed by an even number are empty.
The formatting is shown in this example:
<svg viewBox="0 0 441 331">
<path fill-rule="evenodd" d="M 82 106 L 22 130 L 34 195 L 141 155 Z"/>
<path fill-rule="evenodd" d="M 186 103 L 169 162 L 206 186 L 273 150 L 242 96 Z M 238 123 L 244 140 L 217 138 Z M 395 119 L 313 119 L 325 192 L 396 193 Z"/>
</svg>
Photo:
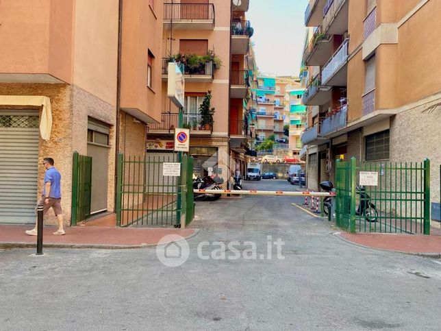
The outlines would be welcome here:
<svg viewBox="0 0 441 331">
<path fill-rule="evenodd" d="M 441 258 L 440 235 L 337 232 L 336 236 L 362 247 Z"/>
</svg>

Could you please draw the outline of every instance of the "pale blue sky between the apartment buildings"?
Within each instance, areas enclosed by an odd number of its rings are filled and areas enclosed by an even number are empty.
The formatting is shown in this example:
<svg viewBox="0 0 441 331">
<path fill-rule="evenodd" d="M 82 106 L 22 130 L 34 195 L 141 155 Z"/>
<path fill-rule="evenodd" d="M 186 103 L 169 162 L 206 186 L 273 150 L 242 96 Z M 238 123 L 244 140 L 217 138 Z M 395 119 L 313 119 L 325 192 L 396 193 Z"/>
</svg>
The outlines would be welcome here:
<svg viewBox="0 0 441 331">
<path fill-rule="evenodd" d="M 308 0 L 249 0 L 245 14 L 254 29 L 255 59 L 259 71 L 298 76 L 305 42 Z"/>
</svg>

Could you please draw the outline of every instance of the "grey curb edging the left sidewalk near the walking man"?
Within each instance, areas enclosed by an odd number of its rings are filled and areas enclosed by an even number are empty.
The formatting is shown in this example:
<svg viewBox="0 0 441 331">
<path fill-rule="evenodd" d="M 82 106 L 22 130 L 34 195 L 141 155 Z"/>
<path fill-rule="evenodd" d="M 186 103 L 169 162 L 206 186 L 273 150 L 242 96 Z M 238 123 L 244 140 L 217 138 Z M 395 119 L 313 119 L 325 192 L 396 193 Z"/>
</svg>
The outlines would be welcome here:
<svg viewBox="0 0 441 331">
<path fill-rule="evenodd" d="M 194 233 L 190 236 L 184 238 L 188 240 L 197 234 L 199 234 L 199 229 L 192 229 Z M 179 241 L 177 241 L 179 242 Z M 150 248 L 156 247 L 157 243 L 154 244 L 140 244 L 140 245 L 114 245 L 114 244 L 76 244 L 76 243 L 44 243 L 43 248 L 72 248 L 72 249 L 81 249 L 81 248 L 89 248 L 89 249 L 140 249 L 140 248 Z M 13 249 L 13 248 L 36 248 L 36 243 L 24 243 L 24 242 L 0 242 L 0 249 Z"/>
</svg>

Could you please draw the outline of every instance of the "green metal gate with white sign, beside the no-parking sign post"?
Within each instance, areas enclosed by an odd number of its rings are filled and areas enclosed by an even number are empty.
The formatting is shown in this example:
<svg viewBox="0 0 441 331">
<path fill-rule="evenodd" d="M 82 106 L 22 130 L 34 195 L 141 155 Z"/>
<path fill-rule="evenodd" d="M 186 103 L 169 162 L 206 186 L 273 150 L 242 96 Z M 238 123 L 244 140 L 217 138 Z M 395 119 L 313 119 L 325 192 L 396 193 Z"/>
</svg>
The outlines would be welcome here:
<svg viewBox="0 0 441 331">
<path fill-rule="evenodd" d="M 192 221 L 188 213 L 192 207 L 188 194 L 192 157 L 118 154 L 117 163 L 116 225 L 179 227 L 183 220 L 186 224 Z M 180 176 L 163 175 L 164 163 L 180 163 Z"/>
</svg>

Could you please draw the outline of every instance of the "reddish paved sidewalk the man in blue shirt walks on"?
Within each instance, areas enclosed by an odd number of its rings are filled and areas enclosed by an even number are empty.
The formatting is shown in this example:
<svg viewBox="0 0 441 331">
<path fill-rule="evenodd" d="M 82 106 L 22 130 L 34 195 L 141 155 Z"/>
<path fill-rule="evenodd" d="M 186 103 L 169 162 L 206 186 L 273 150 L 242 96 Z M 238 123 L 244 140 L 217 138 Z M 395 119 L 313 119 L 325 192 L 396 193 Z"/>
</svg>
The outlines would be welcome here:
<svg viewBox="0 0 441 331">
<path fill-rule="evenodd" d="M 0 248 L 36 247 L 37 237 L 28 236 L 25 230 L 32 226 L 0 225 Z M 66 248 L 140 248 L 157 245 L 168 234 L 190 238 L 197 234 L 197 229 L 174 228 L 101 228 L 68 227 L 64 236 L 55 236 L 53 227 L 45 227 L 43 247 Z"/>
</svg>

